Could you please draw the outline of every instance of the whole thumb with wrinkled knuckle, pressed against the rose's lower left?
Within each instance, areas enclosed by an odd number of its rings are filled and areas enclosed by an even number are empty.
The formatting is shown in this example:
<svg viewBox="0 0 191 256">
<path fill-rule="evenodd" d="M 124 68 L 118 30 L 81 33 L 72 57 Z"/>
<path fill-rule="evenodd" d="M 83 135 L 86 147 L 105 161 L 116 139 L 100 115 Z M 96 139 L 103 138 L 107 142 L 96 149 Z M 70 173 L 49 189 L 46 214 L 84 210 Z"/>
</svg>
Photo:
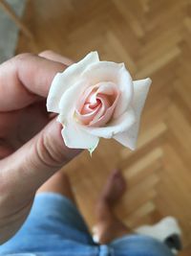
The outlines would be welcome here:
<svg viewBox="0 0 191 256">
<path fill-rule="evenodd" d="M 18 151 L 0 161 L 1 186 L 17 198 L 32 195 L 81 150 L 65 146 L 55 118 Z"/>
</svg>

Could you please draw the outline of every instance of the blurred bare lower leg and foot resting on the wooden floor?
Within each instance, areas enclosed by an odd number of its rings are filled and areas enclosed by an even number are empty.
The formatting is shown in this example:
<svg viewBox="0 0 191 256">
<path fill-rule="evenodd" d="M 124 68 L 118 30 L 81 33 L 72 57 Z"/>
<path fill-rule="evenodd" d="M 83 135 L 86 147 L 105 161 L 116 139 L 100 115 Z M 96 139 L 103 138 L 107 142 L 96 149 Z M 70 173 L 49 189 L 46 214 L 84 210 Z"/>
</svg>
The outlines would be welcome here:
<svg viewBox="0 0 191 256">
<path fill-rule="evenodd" d="M 96 205 L 95 234 L 100 244 L 107 244 L 132 231 L 117 219 L 113 207 L 126 189 L 124 177 L 115 170 L 108 178 Z"/>
</svg>

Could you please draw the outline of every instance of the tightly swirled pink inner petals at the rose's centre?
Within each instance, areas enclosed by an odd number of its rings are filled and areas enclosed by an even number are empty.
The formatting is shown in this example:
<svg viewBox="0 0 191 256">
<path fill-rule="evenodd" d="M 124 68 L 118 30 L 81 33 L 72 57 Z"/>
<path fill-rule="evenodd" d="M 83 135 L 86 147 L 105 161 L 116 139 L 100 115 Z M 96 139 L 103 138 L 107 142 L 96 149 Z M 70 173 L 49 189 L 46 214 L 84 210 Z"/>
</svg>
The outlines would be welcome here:
<svg viewBox="0 0 191 256">
<path fill-rule="evenodd" d="M 103 127 L 111 121 L 119 91 L 113 82 L 100 82 L 88 87 L 75 105 L 75 117 L 85 126 Z"/>
</svg>

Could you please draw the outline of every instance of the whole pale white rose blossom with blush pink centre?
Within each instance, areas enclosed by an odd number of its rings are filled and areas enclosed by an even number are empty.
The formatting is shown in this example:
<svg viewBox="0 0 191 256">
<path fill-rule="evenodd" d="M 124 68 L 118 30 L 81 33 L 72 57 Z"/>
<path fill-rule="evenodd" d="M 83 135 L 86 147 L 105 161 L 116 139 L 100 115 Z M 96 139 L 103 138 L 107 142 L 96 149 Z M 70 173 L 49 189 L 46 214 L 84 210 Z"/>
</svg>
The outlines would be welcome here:
<svg viewBox="0 0 191 256">
<path fill-rule="evenodd" d="M 132 81 L 124 63 L 100 61 L 92 52 L 54 77 L 47 108 L 58 113 L 69 148 L 92 152 L 103 137 L 134 150 L 150 84 Z"/>
</svg>

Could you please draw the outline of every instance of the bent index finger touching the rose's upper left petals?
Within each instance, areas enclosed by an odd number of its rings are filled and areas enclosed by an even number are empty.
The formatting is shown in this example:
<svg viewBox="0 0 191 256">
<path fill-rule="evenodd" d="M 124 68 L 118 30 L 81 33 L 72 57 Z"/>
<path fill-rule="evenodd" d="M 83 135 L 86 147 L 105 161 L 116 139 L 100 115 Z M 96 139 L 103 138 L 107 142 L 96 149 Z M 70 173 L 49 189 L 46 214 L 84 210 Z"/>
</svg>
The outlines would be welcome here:
<svg viewBox="0 0 191 256">
<path fill-rule="evenodd" d="M 32 54 L 22 54 L 0 65 L 0 111 L 11 111 L 46 98 L 53 77 L 66 65 Z"/>
</svg>

